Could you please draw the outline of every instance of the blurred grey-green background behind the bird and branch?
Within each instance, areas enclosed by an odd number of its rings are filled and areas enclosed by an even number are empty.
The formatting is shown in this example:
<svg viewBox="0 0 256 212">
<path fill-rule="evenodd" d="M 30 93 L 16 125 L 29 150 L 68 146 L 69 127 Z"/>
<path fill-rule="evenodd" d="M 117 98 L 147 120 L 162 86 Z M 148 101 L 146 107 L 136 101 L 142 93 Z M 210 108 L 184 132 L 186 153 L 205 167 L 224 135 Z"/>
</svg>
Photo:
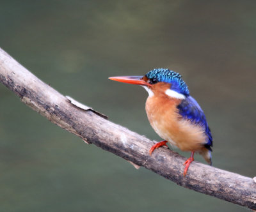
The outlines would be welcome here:
<svg viewBox="0 0 256 212">
<path fill-rule="evenodd" d="M 145 90 L 108 77 L 181 73 L 214 167 L 256 176 L 256 1 L 1 0 L 0 30 L 37 77 L 150 139 Z M 0 96 L 0 211 L 246 211 L 84 144 L 3 85 Z"/>
</svg>

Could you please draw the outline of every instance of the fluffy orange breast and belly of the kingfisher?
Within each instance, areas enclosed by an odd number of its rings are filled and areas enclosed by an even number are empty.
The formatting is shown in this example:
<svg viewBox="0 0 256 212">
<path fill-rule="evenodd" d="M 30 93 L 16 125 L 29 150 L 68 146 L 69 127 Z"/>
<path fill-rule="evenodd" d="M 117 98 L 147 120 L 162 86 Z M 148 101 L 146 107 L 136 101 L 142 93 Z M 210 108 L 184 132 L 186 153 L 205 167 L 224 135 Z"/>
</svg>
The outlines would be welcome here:
<svg viewBox="0 0 256 212">
<path fill-rule="evenodd" d="M 182 119 L 177 110 L 181 100 L 166 95 L 148 97 L 146 112 L 156 133 L 182 151 L 200 151 L 206 141 L 204 130 Z"/>
</svg>

